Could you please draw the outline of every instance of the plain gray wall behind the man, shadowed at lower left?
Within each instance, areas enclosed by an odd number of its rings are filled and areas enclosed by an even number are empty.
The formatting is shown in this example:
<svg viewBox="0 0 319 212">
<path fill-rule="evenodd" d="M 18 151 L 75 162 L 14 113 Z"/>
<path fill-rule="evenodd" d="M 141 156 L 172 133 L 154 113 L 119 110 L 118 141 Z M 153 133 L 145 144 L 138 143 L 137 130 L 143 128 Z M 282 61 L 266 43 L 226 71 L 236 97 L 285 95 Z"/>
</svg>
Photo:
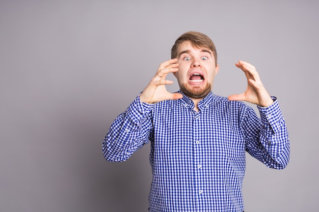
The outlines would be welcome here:
<svg viewBox="0 0 319 212">
<path fill-rule="evenodd" d="M 242 93 L 234 64 L 247 60 L 287 122 L 286 169 L 247 156 L 245 210 L 317 210 L 318 10 L 315 0 L 2 0 L 0 211 L 147 211 L 149 145 L 109 163 L 102 140 L 187 31 L 216 43 L 214 93 Z"/>
</svg>

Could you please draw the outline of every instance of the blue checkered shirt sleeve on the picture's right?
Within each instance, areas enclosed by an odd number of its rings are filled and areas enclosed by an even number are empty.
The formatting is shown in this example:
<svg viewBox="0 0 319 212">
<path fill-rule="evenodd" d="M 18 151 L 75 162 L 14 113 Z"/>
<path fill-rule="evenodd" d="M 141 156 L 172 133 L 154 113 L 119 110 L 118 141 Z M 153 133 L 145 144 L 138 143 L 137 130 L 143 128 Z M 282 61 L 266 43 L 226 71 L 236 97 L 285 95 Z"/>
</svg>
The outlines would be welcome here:
<svg viewBox="0 0 319 212">
<path fill-rule="evenodd" d="M 279 103 L 273 99 L 269 107 L 257 106 L 260 119 L 255 113 L 247 115 L 243 129 L 246 129 L 247 152 L 270 168 L 283 169 L 289 161 L 289 138 Z M 258 123 L 257 119 L 259 124 L 252 125 Z"/>
</svg>

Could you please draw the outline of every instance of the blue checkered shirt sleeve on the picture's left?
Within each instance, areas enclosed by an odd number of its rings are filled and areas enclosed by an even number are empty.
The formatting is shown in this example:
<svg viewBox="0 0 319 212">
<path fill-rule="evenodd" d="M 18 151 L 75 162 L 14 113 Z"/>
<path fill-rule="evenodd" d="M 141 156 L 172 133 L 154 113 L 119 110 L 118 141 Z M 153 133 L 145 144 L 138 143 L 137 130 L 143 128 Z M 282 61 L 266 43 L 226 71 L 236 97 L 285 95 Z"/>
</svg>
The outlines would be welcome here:
<svg viewBox="0 0 319 212">
<path fill-rule="evenodd" d="M 154 104 L 142 103 L 140 95 L 112 123 L 104 138 L 102 150 L 110 162 L 127 160 L 152 137 L 151 109 Z"/>
</svg>

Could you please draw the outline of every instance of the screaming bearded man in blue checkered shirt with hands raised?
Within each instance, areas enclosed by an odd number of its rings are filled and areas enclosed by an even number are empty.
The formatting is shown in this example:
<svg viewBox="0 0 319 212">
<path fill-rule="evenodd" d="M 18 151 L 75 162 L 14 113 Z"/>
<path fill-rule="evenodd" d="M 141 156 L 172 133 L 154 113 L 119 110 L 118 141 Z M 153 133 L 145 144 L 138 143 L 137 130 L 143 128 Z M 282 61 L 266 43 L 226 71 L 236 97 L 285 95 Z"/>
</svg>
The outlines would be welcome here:
<svg viewBox="0 0 319 212">
<path fill-rule="evenodd" d="M 149 211 L 243 211 L 245 151 L 271 168 L 289 160 L 289 140 L 278 101 L 255 67 L 239 61 L 245 93 L 228 99 L 212 94 L 219 71 L 214 43 L 188 32 L 172 47 L 143 92 L 112 124 L 103 142 L 108 161 L 124 161 L 151 143 Z M 165 85 L 173 73 L 180 90 Z M 256 104 L 254 110 L 242 103 Z"/>
</svg>

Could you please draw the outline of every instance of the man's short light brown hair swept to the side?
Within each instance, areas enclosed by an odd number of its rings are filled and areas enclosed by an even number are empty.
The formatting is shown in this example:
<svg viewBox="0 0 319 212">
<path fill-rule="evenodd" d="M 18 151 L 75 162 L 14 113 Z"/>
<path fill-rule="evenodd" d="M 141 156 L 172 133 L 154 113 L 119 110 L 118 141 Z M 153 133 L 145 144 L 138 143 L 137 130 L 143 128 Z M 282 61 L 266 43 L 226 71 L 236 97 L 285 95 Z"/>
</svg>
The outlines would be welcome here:
<svg viewBox="0 0 319 212">
<path fill-rule="evenodd" d="M 217 65 L 217 51 L 214 42 L 203 33 L 199 32 L 187 32 L 179 36 L 175 41 L 175 44 L 171 50 L 171 58 L 177 57 L 177 50 L 179 45 L 184 41 L 190 41 L 191 44 L 196 48 L 208 48 L 215 57 L 215 64 Z"/>
</svg>

